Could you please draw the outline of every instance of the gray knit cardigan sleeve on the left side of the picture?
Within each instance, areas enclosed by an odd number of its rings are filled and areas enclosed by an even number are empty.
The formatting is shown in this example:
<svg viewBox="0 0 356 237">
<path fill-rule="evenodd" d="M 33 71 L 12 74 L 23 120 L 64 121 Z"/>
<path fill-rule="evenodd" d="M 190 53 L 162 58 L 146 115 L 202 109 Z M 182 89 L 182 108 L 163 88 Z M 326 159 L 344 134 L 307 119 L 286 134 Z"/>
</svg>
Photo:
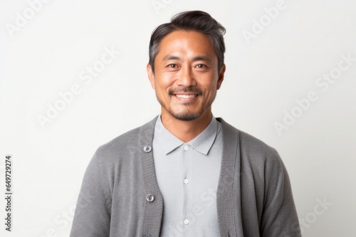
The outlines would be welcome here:
<svg viewBox="0 0 356 237">
<path fill-rule="evenodd" d="M 110 235 L 110 170 L 100 148 L 85 171 L 70 237 Z"/>
</svg>

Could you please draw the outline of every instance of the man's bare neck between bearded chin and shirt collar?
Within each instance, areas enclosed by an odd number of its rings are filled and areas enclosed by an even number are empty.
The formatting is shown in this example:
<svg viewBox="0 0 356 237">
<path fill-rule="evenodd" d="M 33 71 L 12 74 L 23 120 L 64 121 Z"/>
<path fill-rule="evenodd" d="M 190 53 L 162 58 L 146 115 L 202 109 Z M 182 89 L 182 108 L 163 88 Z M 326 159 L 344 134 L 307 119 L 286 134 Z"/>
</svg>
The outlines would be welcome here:
<svg viewBox="0 0 356 237">
<path fill-rule="evenodd" d="M 174 118 L 167 111 L 162 111 L 161 120 L 163 126 L 174 136 L 184 143 L 197 137 L 209 125 L 211 121 L 211 111 L 201 114 L 199 118 L 192 121 L 182 121 Z"/>
</svg>

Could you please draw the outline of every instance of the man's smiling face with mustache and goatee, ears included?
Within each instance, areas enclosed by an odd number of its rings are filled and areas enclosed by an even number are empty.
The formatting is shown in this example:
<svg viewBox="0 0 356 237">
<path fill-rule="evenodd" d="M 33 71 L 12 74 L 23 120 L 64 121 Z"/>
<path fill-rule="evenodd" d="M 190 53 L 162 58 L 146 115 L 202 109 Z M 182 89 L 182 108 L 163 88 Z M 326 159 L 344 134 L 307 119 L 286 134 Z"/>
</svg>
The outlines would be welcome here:
<svg viewBox="0 0 356 237">
<path fill-rule="evenodd" d="M 162 116 L 192 121 L 211 115 L 216 90 L 224 79 L 209 36 L 197 31 L 174 31 L 159 44 L 155 73 L 147 73 L 156 90 Z"/>
</svg>

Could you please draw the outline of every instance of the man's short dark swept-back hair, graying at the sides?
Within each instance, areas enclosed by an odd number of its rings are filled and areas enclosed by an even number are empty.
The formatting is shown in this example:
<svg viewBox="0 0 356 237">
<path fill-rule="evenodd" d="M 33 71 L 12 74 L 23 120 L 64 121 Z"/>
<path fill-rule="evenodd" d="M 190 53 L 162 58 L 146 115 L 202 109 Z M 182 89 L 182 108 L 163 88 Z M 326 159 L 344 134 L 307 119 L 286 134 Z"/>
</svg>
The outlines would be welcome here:
<svg viewBox="0 0 356 237">
<path fill-rule="evenodd" d="M 152 72 L 155 72 L 155 58 L 159 51 L 159 43 L 164 36 L 173 31 L 198 31 L 209 36 L 214 46 L 216 56 L 218 57 L 219 70 L 224 66 L 225 43 L 224 26 L 221 26 L 209 13 L 204 11 L 183 11 L 172 17 L 170 23 L 164 23 L 152 32 L 149 47 L 149 64 Z"/>
</svg>

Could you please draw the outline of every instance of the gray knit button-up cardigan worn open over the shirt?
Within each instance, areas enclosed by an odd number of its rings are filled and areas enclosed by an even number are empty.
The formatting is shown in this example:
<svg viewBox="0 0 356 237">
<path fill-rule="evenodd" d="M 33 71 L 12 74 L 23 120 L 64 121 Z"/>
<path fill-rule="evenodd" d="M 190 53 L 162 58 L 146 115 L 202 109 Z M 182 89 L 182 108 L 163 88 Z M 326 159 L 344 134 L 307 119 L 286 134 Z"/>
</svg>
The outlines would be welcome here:
<svg viewBox="0 0 356 237">
<path fill-rule="evenodd" d="M 221 236 L 301 236 L 276 150 L 216 119 L 224 140 L 216 194 Z M 159 236 L 164 206 L 152 155 L 156 120 L 98 148 L 85 171 L 71 237 Z"/>
</svg>

